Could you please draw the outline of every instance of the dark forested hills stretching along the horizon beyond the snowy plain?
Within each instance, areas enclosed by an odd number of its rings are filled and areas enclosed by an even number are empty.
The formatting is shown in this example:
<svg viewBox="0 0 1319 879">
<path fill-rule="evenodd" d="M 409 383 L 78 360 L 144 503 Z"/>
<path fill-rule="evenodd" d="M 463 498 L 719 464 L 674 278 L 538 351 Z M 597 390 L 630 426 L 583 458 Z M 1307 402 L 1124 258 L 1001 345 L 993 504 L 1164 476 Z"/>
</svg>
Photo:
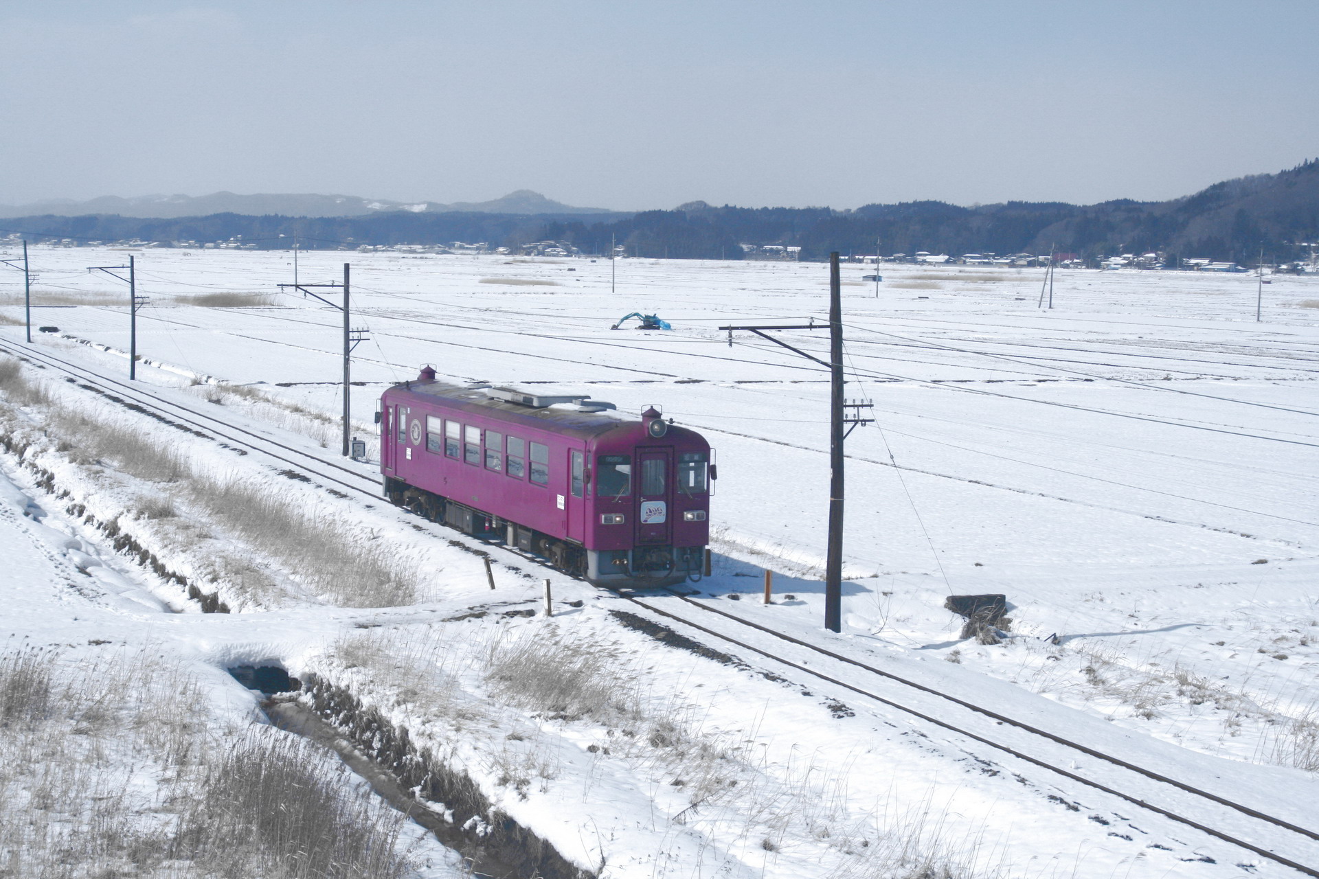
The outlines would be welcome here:
<svg viewBox="0 0 1319 879">
<path fill-rule="evenodd" d="M 3 225 L 58 239 L 124 241 L 228 241 L 288 248 L 297 231 L 307 248 L 479 242 L 518 248 L 555 240 L 604 254 L 611 240 L 629 256 L 740 260 L 739 246 L 801 246 L 803 260 L 831 250 L 884 254 L 1076 253 L 1093 258 L 1162 252 L 1253 262 L 1303 256 L 1298 242 L 1319 239 L 1319 161 L 1279 174 L 1216 183 L 1171 202 L 1101 204 L 1008 202 L 958 207 L 943 202 L 830 208 L 711 207 L 692 202 L 673 211 L 625 215 L 410 213 L 352 217 L 286 217 L 216 213 L 141 220 L 120 216 L 42 216 Z M 239 237 L 241 236 L 241 237 Z M 282 236 L 282 237 L 281 237 Z"/>
</svg>

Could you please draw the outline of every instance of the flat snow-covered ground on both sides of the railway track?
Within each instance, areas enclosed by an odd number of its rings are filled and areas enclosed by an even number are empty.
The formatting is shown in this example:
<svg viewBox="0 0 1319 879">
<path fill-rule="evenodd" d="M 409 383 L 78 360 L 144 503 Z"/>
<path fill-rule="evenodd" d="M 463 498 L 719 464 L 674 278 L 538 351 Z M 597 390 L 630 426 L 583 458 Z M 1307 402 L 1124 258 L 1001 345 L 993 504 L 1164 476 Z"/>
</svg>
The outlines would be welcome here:
<svg viewBox="0 0 1319 879">
<path fill-rule="evenodd" d="M 41 348 L 127 373 L 127 291 L 86 271 L 127 256 L 33 249 L 34 323 L 59 328 L 37 337 Z M 293 279 L 288 254 L 135 256 L 152 300 L 138 318 L 144 385 L 336 448 L 324 416 L 340 406 L 340 318 L 277 293 Z M 380 389 L 427 362 L 442 378 L 572 389 L 624 412 L 658 405 L 718 449 L 716 576 L 700 584 L 703 600 L 1005 708 L 1047 709 L 1083 734 L 1119 730 L 1132 754 L 1254 788 L 1293 820 L 1316 800 L 1319 279 L 1273 277 L 1256 323 L 1246 275 L 1059 271 L 1049 311 L 1037 307 L 1039 270 L 884 266 L 876 297 L 860 279 L 869 270 L 845 266 L 847 395 L 872 399 L 877 423 L 847 440 L 844 633 L 826 638 L 828 377 L 749 333 L 729 347 L 718 331 L 823 322 L 826 266 L 625 260 L 611 294 L 607 261 L 303 252 L 299 278 L 338 281 L 344 261 L 352 323 L 371 331 L 353 356 L 360 435 L 373 430 Z M 22 337 L 9 323 L 22 314 L 17 282 L 0 275 L 0 344 Z M 219 293 L 256 304 L 198 304 Z M 630 311 L 674 329 L 609 329 Z M 827 351 L 823 332 L 782 337 Z M 95 630 L 168 646 L 203 671 L 272 660 L 326 676 L 600 875 L 921 875 L 922 857 L 938 862 L 931 876 L 1287 875 L 905 716 L 856 704 L 848 714 L 818 688 L 802 697 L 658 646 L 617 625 L 616 600 L 547 571 L 504 565 L 493 613 L 443 622 L 492 602 L 479 559 L 445 539 L 452 532 L 417 531 L 384 505 L 327 497 L 257 456 L 45 383 L 50 402 L 0 399 L 5 430 L 71 497 L 53 501 L 16 455 L 0 457 L 17 486 L 0 546 L 26 539 L 20 490 L 46 507 L 46 526 L 88 546 L 55 546 L 47 569 L 7 565 L 15 646 L 58 644 L 86 662 Z M 182 469 L 135 470 L 113 449 L 79 455 L 71 439 L 91 428 L 70 412 L 148 431 Z M 353 601 L 299 577 L 216 492 L 187 488 L 198 480 L 278 497 L 376 553 L 379 571 L 361 576 L 384 597 Z M 168 513 L 138 513 L 144 498 Z M 59 509 L 70 501 L 244 613 L 195 614 L 177 585 L 108 550 L 106 565 L 79 573 L 70 553 L 106 538 Z M 752 601 L 761 567 L 776 572 L 769 606 Z M 119 579 L 87 581 L 103 568 Z M 583 606 L 551 621 L 500 615 L 533 606 L 545 576 L 557 598 Z M 942 609 L 950 593 L 980 592 L 1013 605 L 1001 644 L 959 642 L 960 618 Z M 518 687 L 545 666 L 575 669 L 563 677 L 580 687 L 558 701 Z M 245 698 L 236 684 L 214 689 Z M 233 709 L 220 714 L 232 723 Z"/>
</svg>

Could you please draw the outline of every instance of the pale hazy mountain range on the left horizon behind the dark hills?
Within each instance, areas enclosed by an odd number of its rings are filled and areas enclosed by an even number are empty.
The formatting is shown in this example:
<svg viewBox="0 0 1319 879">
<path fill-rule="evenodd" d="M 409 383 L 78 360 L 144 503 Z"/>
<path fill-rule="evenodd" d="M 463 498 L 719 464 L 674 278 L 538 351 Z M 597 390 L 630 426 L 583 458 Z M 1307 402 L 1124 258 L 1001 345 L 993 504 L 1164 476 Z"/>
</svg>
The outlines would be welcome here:
<svg viewBox="0 0 1319 879">
<path fill-rule="evenodd" d="M 106 195 L 90 202 L 54 199 L 32 204 L 0 204 L 0 217 L 15 216 L 87 216 L 112 213 L 140 219 L 175 219 L 181 216 L 207 216 L 211 213 L 244 213 L 249 216 L 367 216 L 390 211 L 413 213 L 611 213 L 604 208 L 572 207 L 554 202 L 539 192 L 517 190 L 489 202 L 389 202 L 364 199 L 355 195 L 236 195 L 212 192 L 210 195 L 138 195 L 119 198 Z"/>
</svg>

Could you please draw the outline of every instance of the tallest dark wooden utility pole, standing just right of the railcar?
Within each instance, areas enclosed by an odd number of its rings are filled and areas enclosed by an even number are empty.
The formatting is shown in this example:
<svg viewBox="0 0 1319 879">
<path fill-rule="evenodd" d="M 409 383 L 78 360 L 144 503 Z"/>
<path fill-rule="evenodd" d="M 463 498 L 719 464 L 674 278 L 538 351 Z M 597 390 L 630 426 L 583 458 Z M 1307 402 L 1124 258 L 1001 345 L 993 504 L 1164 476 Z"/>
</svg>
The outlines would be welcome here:
<svg viewBox="0 0 1319 879">
<path fill-rule="evenodd" d="M 843 489 L 844 456 L 843 443 L 857 427 L 869 424 L 873 418 L 863 418 L 863 409 L 873 409 L 868 399 L 847 401 L 843 397 L 843 282 L 839 269 L 839 254 L 828 256 L 828 324 L 772 324 L 761 327 L 720 327 L 728 332 L 728 344 L 733 344 L 733 331 L 747 329 L 793 353 L 815 361 L 830 370 L 830 492 L 828 492 L 828 551 L 824 564 L 824 627 L 840 631 L 843 627 Z M 766 329 L 824 329 L 830 331 L 830 361 L 824 362 L 814 354 L 774 339 Z M 848 412 L 851 410 L 851 412 Z M 848 426 L 844 432 L 844 426 Z"/>
</svg>

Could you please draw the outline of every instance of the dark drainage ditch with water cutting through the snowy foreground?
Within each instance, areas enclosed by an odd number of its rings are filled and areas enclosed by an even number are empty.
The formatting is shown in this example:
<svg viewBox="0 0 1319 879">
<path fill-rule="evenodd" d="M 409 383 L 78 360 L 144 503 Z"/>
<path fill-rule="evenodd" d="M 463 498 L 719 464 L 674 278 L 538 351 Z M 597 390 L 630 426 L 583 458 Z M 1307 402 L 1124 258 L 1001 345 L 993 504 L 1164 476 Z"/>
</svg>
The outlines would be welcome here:
<svg viewBox="0 0 1319 879">
<path fill-rule="evenodd" d="M 389 805 L 458 851 L 477 879 L 595 879 L 346 689 L 315 675 L 290 677 L 278 666 L 239 666 L 230 675 L 266 696 L 261 708 L 274 726 L 338 754 Z"/>
</svg>

